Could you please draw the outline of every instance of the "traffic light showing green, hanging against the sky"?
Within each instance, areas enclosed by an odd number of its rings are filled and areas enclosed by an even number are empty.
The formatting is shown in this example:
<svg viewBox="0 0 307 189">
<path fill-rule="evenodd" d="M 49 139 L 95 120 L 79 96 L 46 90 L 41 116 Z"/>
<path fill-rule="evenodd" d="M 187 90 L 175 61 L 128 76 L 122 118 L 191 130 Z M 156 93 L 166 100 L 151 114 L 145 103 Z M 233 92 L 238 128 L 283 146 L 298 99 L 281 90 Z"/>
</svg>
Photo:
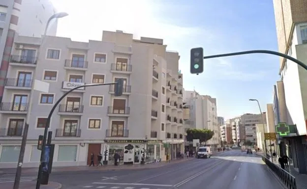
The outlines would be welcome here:
<svg viewBox="0 0 307 189">
<path fill-rule="evenodd" d="M 191 74 L 200 74 L 204 71 L 204 50 L 201 47 L 191 49 Z"/>
</svg>

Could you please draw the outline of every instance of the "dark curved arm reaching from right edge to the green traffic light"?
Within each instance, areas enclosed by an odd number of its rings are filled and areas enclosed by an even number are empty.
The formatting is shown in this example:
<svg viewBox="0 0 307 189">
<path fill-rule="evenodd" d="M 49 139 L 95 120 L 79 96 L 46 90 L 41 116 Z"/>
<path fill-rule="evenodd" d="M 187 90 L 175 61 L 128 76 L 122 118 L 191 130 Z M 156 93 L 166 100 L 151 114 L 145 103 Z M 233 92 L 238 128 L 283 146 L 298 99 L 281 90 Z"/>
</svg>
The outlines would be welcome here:
<svg viewBox="0 0 307 189">
<path fill-rule="evenodd" d="M 305 70 L 307 70 L 307 65 L 304 64 L 303 62 L 301 62 L 298 59 L 295 59 L 287 54 L 282 54 L 282 53 L 278 53 L 275 51 L 268 51 L 268 50 L 253 50 L 253 51 L 243 51 L 243 52 L 238 52 L 238 53 L 227 53 L 227 54 L 216 54 L 216 55 L 211 55 L 211 56 L 204 56 L 204 59 L 209 59 L 209 58 L 216 58 L 216 57 L 224 57 L 224 56 L 235 56 L 235 55 L 242 55 L 242 54 L 274 54 L 277 56 L 281 56 L 284 58 L 287 58 L 295 63 L 297 63 L 298 65 L 302 66 Z"/>
</svg>

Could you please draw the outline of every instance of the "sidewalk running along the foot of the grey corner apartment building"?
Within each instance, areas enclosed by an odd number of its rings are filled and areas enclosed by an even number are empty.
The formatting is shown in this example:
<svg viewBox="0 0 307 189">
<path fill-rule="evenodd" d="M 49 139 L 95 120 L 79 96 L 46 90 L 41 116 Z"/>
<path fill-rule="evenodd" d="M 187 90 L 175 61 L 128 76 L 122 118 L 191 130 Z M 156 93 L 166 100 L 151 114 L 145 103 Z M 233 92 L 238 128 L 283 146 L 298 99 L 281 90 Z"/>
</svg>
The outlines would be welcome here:
<svg viewBox="0 0 307 189">
<path fill-rule="evenodd" d="M 184 158 L 179 160 L 172 160 L 171 162 L 153 162 L 148 164 L 133 164 L 133 165 L 103 165 L 103 166 L 95 166 L 90 167 L 89 165 L 81 165 L 81 166 L 61 166 L 61 167 L 52 167 L 52 172 L 65 172 L 65 171 L 91 171 L 91 170 L 125 170 L 125 169 L 148 169 L 148 168 L 158 168 L 165 166 L 170 163 L 179 163 L 185 162 L 188 160 L 193 160 L 194 158 Z M 0 174 L 14 174 L 16 172 L 16 168 L 7 168 L 0 169 Z M 37 173 L 37 167 L 31 168 L 23 168 L 22 173 Z"/>
</svg>

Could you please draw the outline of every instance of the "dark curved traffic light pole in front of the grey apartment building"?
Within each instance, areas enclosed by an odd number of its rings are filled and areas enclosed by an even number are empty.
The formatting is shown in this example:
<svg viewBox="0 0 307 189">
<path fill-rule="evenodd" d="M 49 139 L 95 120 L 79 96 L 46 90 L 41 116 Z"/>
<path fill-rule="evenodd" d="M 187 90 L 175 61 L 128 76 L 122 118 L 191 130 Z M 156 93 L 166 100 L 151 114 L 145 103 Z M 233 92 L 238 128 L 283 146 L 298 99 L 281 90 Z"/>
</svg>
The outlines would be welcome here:
<svg viewBox="0 0 307 189">
<path fill-rule="evenodd" d="M 122 81 L 120 81 L 122 82 Z M 55 111 L 55 109 L 57 108 L 57 106 L 61 103 L 61 101 L 71 92 L 73 92 L 74 90 L 78 89 L 78 88 L 82 88 L 82 87 L 91 87 L 91 86 L 101 86 L 101 85 L 112 85 L 112 84 L 118 84 L 119 82 L 110 82 L 110 83 L 97 83 L 97 84 L 84 84 L 84 85 L 80 85 L 80 86 L 76 86 L 72 89 L 70 89 L 69 91 L 67 91 L 65 94 L 63 94 L 60 99 L 54 104 L 54 106 L 51 108 L 49 115 L 47 117 L 47 122 L 45 125 L 45 129 L 44 129 L 44 137 L 43 137 L 43 143 L 42 143 L 42 150 L 41 150 L 41 154 L 40 154 L 40 163 L 39 163 L 39 167 L 38 167 L 38 174 L 37 174 L 37 181 L 36 181 L 36 189 L 40 188 L 40 183 L 41 183 L 41 177 L 42 177 L 42 163 L 44 160 L 44 154 L 45 154 L 45 147 L 46 147 L 46 140 L 47 140 L 47 135 L 48 135 L 48 128 L 50 126 L 50 121 L 51 121 L 51 117 L 53 112 Z M 123 88 L 123 83 L 121 83 L 121 87 Z M 44 174 L 46 175 L 46 174 Z M 48 174 L 49 175 L 49 174 Z"/>
</svg>

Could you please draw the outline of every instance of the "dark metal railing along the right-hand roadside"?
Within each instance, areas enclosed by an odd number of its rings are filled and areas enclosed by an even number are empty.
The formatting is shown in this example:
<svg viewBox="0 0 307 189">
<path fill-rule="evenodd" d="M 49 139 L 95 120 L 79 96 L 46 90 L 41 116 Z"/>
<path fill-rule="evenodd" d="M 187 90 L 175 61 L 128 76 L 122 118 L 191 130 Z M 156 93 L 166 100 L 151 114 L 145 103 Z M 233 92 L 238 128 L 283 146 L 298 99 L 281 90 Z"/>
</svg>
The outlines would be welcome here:
<svg viewBox="0 0 307 189">
<path fill-rule="evenodd" d="M 293 175 L 276 165 L 274 162 L 271 162 L 266 157 L 262 156 L 261 158 L 262 161 L 268 165 L 268 167 L 279 177 L 281 182 L 286 185 L 288 189 L 297 189 L 295 177 Z"/>
</svg>

